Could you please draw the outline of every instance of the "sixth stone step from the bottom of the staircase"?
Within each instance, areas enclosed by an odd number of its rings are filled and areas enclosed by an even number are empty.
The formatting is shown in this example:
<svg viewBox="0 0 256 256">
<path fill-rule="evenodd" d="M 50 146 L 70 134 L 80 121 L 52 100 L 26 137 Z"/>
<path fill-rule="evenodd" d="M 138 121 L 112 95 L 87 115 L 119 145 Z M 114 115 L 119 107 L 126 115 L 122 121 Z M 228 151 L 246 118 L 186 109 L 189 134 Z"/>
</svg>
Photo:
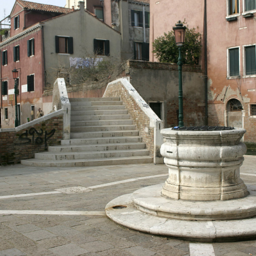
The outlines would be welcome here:
<svg viewBox="0 0 256 256">
<path fill-rule="evenodd" d="M 71 132 L 93 132 L 93 131 L 127 131 L 135 130 L 135 125 L 105 125 L 105 126 L 75 126 L 70 127 Z"/>
</svg>

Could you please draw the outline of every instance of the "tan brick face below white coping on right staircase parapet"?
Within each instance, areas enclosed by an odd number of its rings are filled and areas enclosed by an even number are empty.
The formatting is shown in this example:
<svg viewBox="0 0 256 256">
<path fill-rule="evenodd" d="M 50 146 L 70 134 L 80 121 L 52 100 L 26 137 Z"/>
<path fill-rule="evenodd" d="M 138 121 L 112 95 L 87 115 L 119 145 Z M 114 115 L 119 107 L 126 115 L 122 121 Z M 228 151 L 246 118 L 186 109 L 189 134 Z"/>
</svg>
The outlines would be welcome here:
<svg viewBox="0 0 256 256">
<path fill-rule="evenodd" d="M 142 141 L 145 142 L 150 156 L 154 156 L 154 129 L 150 127 L 150 118 L 142 111 L 134 98 L 130 95 L 121 82 L 109 84 L 104 97 L 120 97 L 126 109 L 134 120 L 137 130 L 140 132 Z"/>
</svg>

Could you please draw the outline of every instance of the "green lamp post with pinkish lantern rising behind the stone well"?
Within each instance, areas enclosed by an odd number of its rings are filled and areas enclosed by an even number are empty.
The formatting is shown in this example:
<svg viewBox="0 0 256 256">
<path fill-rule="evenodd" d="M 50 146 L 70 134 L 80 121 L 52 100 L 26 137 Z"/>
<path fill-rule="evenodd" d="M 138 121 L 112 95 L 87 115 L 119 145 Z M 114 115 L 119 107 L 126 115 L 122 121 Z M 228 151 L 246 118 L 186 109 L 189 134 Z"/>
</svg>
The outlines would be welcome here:
<svg viewBox="0 0 256 256">
<path fill-rule="evenodd" d="M 178 58 L 178 71 L 179 71 L 179 127 L 184 126 L 183 122 L 183 90 L 182 90 L 182 58 L 181 58 L 181 47 L 185 41 L 185 30 L 186 27 L 183 26 L 181 21 L 175 24 L 176 27 L 173 27 L 176 46 L 179 49 L 179 58 Z"/>
</svg>

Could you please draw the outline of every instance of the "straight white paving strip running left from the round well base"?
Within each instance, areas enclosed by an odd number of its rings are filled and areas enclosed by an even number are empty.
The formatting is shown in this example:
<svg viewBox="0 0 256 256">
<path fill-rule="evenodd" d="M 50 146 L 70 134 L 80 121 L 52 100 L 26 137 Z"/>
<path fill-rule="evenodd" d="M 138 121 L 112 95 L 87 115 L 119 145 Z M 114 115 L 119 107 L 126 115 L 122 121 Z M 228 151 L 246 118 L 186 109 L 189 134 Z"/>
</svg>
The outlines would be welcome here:
<svg viewBox="0 0 256 256">
<path fill-rule="evenodd" d="M 33 215 L 91 215 L 105 216 L 105 211 L 43 211 L 43 210 L 0 210 L 1 214 L 33 214 Z"/>
</svg>

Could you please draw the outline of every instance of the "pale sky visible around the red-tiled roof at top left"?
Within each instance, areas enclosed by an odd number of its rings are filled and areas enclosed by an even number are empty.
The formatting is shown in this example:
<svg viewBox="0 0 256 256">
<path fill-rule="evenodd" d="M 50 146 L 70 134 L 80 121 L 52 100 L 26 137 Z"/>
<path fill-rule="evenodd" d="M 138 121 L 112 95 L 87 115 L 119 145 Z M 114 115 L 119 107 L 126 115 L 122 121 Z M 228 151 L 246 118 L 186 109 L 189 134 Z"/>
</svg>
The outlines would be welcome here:
<svg viewBox="0 0 256 256">
<path fill-rule="evenodd" d="M 0 0 L 0 21 L 7 17 L 11 11 L 12 7 L 15 3 L 15 0 Z M 29 0 L 29 2 L 34 3 L 44 3 L 44 4 L 51 4 L 52 6 L 61 6 L 64 7 L 66 4 L 66 0 Z M 5 11 L 5 15 L 4 15 Z"/>
</svg>

